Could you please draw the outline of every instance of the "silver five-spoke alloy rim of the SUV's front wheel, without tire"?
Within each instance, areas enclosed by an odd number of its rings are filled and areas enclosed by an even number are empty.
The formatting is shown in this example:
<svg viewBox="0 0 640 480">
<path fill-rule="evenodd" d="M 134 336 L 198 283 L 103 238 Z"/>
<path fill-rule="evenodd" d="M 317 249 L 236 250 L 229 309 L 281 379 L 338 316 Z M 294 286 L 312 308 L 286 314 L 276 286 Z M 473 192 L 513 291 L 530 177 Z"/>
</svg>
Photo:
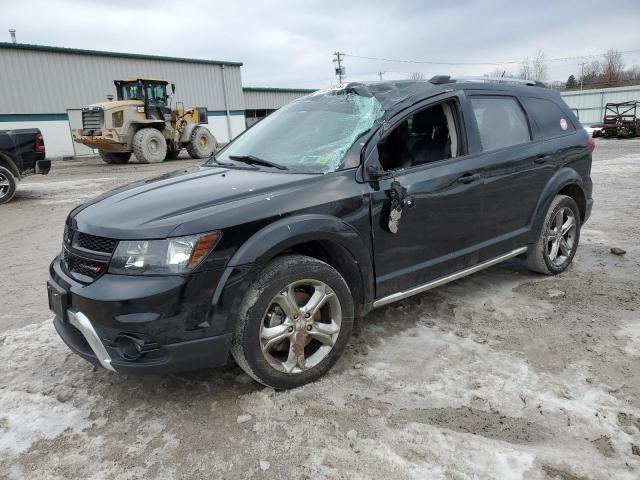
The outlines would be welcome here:
<svg viewBox="0 0 640 480">
<path fill-rule="evenodd" d="M 301 373 L 324 360 L 340 334 L 342 309 L 335 292 L 318 280 L 299 280 L 270 302 L 260 324 L 260 346 L 269 364 Z"/>
</svg>

